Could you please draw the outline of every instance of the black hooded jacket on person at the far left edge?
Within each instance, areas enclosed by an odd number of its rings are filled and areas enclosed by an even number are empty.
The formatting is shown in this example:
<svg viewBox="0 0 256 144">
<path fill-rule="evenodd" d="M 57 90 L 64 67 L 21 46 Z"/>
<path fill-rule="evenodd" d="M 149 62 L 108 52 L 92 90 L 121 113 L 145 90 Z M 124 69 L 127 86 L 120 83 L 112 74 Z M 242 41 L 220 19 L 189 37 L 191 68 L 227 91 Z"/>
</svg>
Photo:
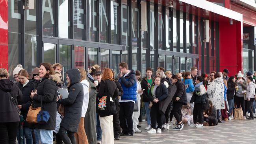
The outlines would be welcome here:
<svg viewBox="0 0 256 144">
<path fill-rule="evenodd" d="M 19 113 L 7 92 L 10 92 L 18 105 L 22 103 L 22 92 L 18 86 L 10 79 L 0 79 L 0 123 L 19 122 Z"/>
</svg>

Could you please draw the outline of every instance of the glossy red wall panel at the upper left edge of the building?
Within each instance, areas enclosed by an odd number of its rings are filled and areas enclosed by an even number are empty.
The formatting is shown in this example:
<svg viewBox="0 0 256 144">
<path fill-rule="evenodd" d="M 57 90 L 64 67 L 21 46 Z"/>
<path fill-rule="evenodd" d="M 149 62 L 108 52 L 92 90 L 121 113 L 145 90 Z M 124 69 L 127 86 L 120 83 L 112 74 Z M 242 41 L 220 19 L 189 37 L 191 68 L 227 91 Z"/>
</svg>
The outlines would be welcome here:
<svg viewBox="0 0 256 144">
<path fill-rule="evenodd" d="M 8 0 L 0 0 L 0 68 L 8 69 Z"/>
</svg>

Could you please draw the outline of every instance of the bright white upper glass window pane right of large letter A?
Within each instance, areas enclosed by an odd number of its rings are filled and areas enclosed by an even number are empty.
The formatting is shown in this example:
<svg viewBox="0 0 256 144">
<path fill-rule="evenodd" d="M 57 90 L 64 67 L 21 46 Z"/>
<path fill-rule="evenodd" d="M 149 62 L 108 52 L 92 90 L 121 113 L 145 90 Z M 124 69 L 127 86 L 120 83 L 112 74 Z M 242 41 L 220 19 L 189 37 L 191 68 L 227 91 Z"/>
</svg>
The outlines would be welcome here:
<svg viewBox="0 0 256 144">
<path fill-rule="evenodd" d="M 59 28 L 59 37 L 69 38 L 69 3 L 68 0 L 58 0 L 58 28 Z"/>
</svg>

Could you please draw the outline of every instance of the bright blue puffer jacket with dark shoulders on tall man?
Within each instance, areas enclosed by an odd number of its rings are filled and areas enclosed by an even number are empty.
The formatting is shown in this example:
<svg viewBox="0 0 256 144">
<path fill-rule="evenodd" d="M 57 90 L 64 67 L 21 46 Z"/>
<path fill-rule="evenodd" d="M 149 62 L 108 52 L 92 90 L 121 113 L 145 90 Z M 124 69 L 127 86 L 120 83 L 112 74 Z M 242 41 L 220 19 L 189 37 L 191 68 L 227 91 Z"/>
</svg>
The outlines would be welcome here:
<svg viewBox="0 0 256 144">
<path fill-rule="evenodd" d="M 120 84 L 122 85 L 122 89 L 124 94 L 122 95 L 122 100 L 133 100 L 136 102 L 137 97 L 137 83 L 135 71 L 131 70 L 127 76 L 122 76 L 119 79 Z"/>
</svg>

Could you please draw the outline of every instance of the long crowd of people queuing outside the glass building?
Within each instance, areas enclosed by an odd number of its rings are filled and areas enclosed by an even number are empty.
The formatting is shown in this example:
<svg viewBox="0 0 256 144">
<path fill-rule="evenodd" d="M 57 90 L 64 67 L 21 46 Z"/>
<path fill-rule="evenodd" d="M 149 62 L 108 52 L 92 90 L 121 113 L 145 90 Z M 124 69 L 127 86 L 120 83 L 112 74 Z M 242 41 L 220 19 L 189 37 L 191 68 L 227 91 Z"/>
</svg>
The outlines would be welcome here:
<svg viewBox="0 0 256 144">
<path fill-rule="evenodd" d="M 113 144 L 114 139 L 141 133 L 139 117 L 146 112 L 147 133 L 162 133 L 184 126 L 203 128 L 233 118 L 254 120 L 256 72 L 241 71 L 228 77 L 228 69 L 198 76 L 198 68 L 172 74 L 158 67 L 129 70 L 119 64 L 113 70 L 99 65 L 89 72 L 67 70 L 65 79 L 59 63 L 41 63 L 29 76 L 17 65 L 14 79 L 0 68 L 0 143 L 15 144 Z M 154 76 L 154 77 L 153 77 Z M 61 95 L 62 89 L 68 96 Z M 42 122 L 29 119 L 35 109 L 48 114 Z M 40 117 L 41 116 L 41 117 Z M 40 122 L 39 122 L 40 119 Z"/>
</svg>

